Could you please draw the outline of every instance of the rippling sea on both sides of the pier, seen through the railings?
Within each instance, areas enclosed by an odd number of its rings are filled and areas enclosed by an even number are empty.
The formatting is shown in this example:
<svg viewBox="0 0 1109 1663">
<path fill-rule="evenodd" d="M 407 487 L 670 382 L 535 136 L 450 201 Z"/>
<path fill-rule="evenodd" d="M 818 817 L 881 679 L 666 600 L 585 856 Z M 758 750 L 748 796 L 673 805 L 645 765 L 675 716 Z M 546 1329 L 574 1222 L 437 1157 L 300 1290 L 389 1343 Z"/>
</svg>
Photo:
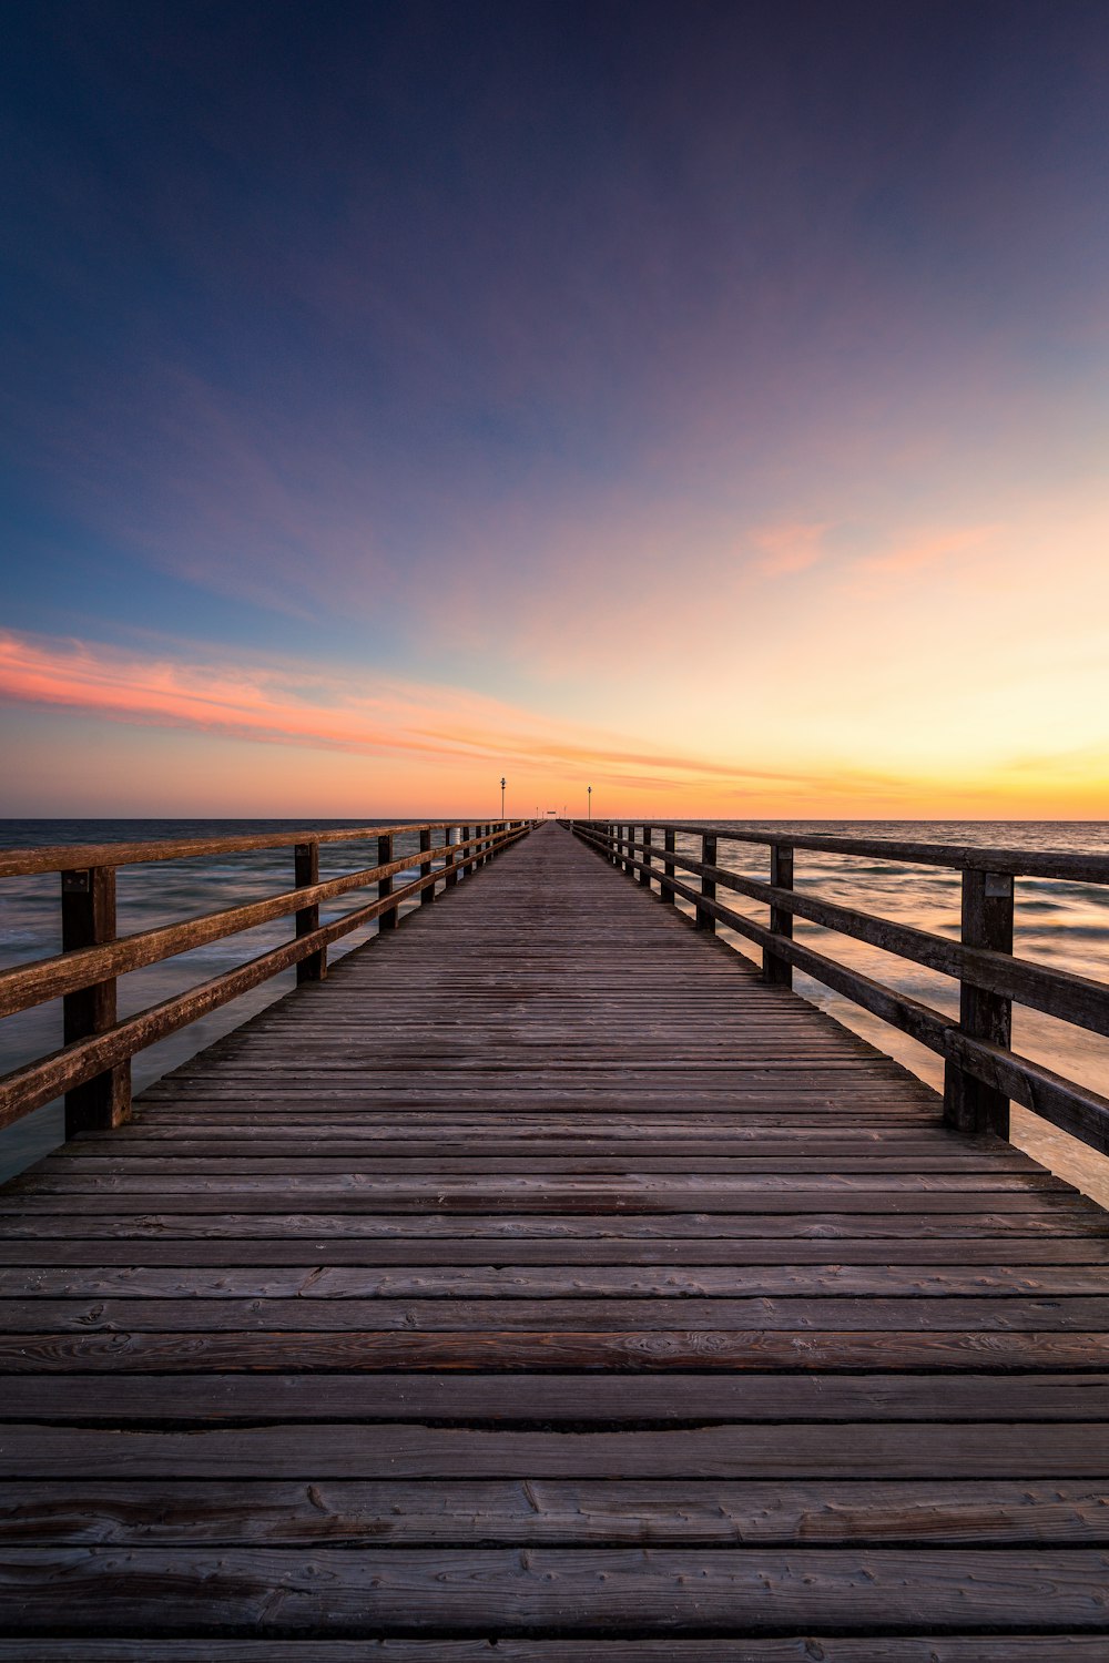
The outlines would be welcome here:
<svg viewBox="0 0 1109 1663">
<path fill-rule="evenodd" d="M 399 825 L 389 815 L 361 820 L 313 822 L 318 830 L 341 830 L 359 825 Z M 728 822 L 713 822 L 720 828 Z M 1109 853 L 1109 822 L 956 822 L 956 820 L 760 820 L 730 822 L 766 835 L 795 836 L 866 836 L 891 841 L 964 843 L 994 848 L 1057 850 L 1067 853 Z M 113 843 L 195 836 L 264 835 L 303 830 L 293 820 L 0 820 L 0 848 L 55 843 Z M 678 850 L 697 855 L 695 840 L 678 836 Z M 397 858 L 417 850 L 417 833 L 397 836 Z M 339 876 L 359 866 L 372 866 L 376 840 L 323 843 L 321 878 Z M 720 863 L 745 876 L 768 878 L 768 851 L 758 845 L 720 841 Z M 258 850 L 244 855 L 168 860 L 146 866 L 125 866 L 118 873 L 118 931 L 150 930 L 156 925 L 259 900 L 293 881 L 293 850 Z M 404 881 L 397 878 L 397 885 Z M 798 850 L 795 886 L 803 893 L 876 913 L 898 923 L 914 925 L 954 940 L 959 936 L 959 873 L 896 860 L 876 860 Z M 362 896 L 341 896 L 321 918 L 339 916 Z M 414 903 L 411 903 L 414 905 Z M 682 903 L 683 905 L 683 903 Z M 766 910 L 742 896 L 728 896 L 728 905 L 758 923 Z M 0 880 L 0 968 L 28 963 L 60 951 L 58 875 Z M 289 920 L 276 920 L 258 930 L 214 941 L 181 953 L 178 958 L 120 980 L 120 1016 L 130 1016 L 148 1004 L 208 981 L 211 976 L 254 958 L 288 940 Z M 346 936 L 331 950 L 331 960 L 364 945 L 376 931 L 371 923 Z M 871 948 L 805 920 L 795 921 L 796 938 L 830 956 L 865 971 L 898 993 L 911 994 L 924 1004 L 958 1014 L 958 983 L 938 971 L 909 965 L 896 955 Z M 720 930 L 737 951 L 755 956 L 745 938 Z M 1016 880 L 1014 951 L 1057 970 L 1069 970 L 1096 981 L 1109 981 L 1109 885 L 1067 883 L 1049 878 Z M 286 994 L 294 973 L 286 971 L 253 993 L 160 1044 L 141 1051 L 133 1061 L 135 1089 L 141 1091 L 168 1069 L 211 1044 L 266 1004 Z M 896 1058 L 928 1084 L 941 1089 L 943 1063 L 916 1041 L 886 1026 L 841 994 L 823 988 L 808 976 L 796 975 L 798 993 L 828 1011 L 838 1021 Z M 60 1001 L 23 1011 L 0 1023 L 0 1073 L 7 1073 L 55 1049 L 62 1043 Z M 1014 1006 L 1013 1048 L 1109 1096 L 1109 1039 L 1086 1033 L 1038 1011 Z M 47 1104 L 15 1126 L 0 1131 L 0 1181 L 12 1177 L 42 1159 L 62 1141 L 62 1104 Z M 1034 1114 L 1014 1106 L 1011 1136 L 1038 1161 L 1069 1179 L 1086 1194 L 1109 1207 L 1109 1157 L 1057 1131 Z"/>
</svg>

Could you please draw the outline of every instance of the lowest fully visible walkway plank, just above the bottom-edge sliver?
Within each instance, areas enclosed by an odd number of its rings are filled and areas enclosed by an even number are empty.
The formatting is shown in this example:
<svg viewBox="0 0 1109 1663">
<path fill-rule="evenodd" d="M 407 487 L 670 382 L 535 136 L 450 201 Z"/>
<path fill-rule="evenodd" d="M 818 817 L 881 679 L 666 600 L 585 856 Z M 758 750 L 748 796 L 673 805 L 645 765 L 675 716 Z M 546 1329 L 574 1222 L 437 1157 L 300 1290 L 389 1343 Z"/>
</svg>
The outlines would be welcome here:
<svg viewBox="0 0 1109 1663">
<path fill-rule="evenodd" d="M 401 1633 L 665 1635 L 953 1626 L 1026 1631 L 1109 1628 L 1109 1553 L 1096 1548 L 953 1552 L 868 1548 L 436 1550 L 5 1548 L 0 1590 L 18 1593 L 23 1630 L 138 1628 L 211 1635 L 366 1638 Z"/>
</svg>

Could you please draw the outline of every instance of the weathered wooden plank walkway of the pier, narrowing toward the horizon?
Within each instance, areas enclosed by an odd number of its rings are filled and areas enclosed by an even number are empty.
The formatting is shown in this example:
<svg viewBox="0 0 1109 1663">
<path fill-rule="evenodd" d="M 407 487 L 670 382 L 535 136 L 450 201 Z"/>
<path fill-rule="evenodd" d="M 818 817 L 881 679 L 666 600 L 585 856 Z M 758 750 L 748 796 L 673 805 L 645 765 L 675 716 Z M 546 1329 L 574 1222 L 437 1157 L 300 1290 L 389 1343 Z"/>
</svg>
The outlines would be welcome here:
<svg viewBox="0 0 1109 1663">
<path fill-rule="evenodd" d="M 1106 1214 L 560 828 L 140 1109 L 0 1197 L 0 1663 L 1109 1656 Z"/>
</svg>

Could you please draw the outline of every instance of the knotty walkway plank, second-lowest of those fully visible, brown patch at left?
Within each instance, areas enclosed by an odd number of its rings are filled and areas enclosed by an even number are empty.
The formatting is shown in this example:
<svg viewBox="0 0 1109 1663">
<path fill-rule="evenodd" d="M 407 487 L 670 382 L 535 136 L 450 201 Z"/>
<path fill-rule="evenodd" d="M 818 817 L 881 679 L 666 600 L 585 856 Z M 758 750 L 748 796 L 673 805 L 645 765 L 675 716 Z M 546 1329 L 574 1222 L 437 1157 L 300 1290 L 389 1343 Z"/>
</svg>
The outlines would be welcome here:
<svg viewBox="0 0 1109 1663">
<path fill-rule="evenodd" d="M 1079 1478 L 7 1480 L 0 1545 L 1104 1548 L 1104 1515 Z"/>
</svg>

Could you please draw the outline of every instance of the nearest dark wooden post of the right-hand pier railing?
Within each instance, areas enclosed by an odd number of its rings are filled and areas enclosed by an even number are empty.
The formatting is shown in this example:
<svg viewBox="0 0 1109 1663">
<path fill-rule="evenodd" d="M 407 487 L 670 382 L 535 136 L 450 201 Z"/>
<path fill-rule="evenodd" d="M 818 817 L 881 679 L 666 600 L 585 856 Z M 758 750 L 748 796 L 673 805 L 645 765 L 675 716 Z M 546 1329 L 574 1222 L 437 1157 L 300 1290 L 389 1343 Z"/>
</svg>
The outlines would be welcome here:
<svg viewBox="0 0 1109 1663">
<path fill-rule="evenodd" d="M 1013 951 L 1013 878 L 1008 873 L 964 868 L 963 945 L 993 953 Z M 1013 1038 L 1011 1001 L 961 981 L 959 1033 L 1008 1051 Z M 1009 1136 L 1009 1099 L 1004 1093 L 974 1079 L 953 1061 L 944 1066 L 943 1118 L 961 1133 Z"/>
</svg>

